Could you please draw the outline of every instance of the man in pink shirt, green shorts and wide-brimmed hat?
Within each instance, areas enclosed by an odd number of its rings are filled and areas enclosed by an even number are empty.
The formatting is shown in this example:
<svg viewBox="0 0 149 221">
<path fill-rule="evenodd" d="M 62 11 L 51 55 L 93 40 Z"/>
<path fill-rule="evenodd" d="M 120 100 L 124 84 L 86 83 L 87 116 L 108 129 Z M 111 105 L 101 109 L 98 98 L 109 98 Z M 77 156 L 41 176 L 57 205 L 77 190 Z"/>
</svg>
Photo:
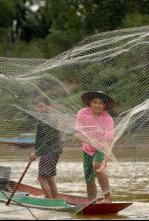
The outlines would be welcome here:
<svg viewBox="0 0 149 221">
<path fill-rule="evenodd" d="M 83 143 L 83 166 L 89 201 L 97 198 L 95 177 L 104 194 L 102 203 L 111 203 L 108 178 L 105 174 L 109 152 L 114 138 L 114 121 L 106 112 L 116 106 L 109 95 L 101 91 L 86 92 L 81 96 L 87 106 L 79 111 L 76 136 Z"/>
</svg>

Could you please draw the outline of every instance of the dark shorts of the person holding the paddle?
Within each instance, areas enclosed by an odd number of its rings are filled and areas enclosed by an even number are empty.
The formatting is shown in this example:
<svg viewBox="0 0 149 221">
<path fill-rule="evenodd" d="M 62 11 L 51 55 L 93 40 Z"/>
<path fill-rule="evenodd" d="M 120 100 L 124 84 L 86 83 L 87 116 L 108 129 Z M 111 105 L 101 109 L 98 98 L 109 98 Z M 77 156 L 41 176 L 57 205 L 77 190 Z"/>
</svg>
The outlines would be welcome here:
<svg viewBox="0 0 149 221">
<path fill-rule="evenodd" d="M 59 154 L 48 154 L 40 157 L 39 176 L 56 176 L 56 166 Z"/>
</svg>

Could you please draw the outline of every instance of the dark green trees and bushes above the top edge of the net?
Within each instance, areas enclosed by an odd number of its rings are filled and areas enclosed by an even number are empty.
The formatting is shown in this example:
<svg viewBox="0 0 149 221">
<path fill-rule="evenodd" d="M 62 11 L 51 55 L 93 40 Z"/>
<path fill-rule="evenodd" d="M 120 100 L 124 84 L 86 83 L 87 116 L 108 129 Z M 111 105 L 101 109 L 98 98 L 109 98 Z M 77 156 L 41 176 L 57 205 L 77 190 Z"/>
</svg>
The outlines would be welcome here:
<svg viewBox="0 0 149 221">
<path fill-rule="evenodd" d="M 87 35 L 149 25 L 149 0 L 0 0 L 0 56 L 51 58 Z"/>
</svg>

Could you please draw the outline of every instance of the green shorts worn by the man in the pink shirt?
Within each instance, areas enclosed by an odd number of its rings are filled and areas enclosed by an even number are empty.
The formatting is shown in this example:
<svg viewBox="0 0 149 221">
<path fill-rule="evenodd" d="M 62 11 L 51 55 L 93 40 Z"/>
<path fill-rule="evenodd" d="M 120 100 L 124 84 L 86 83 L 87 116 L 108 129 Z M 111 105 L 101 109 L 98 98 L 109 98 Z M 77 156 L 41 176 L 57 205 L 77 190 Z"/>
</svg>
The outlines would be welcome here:
<svg viewBox="0 0 149 221">
<path fill-rule="evenodd" d="M 93 162 L 102 163 L 104 161 L 104 153 L 97 151 L 94 156 L 88 155 L 85 151 L 83 151 L 83 167 L 84 167 L 84 175 L 85 181 L 90 182 L 95 176 L 95 172 L 93 170 Z"/>
</svg>

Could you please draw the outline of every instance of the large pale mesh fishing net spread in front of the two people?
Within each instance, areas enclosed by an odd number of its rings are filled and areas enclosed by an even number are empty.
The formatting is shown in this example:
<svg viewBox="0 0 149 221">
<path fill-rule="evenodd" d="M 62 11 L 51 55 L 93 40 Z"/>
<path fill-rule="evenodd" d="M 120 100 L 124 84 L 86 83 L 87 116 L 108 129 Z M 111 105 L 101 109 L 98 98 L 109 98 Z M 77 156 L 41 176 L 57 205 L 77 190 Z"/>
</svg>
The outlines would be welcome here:
<svg viewBox="0 0 149 221">
<path fill-rule="evenodd" d="M 81 100 L 88 91 L 102 91 L 117 105 L 95 117 Z M 149 27 L 89 36 L 53 59 L 2 57 L 0 94 L 0 165 L 11 168 L 11 181 L 0 176 L 2 201 L 32 153 L 38 158 L 11 203 L 72 215 L 109 192 L 114 197 L 148 169 Z M 97 172 L 103 157 L 106 172 Z"/>
</svg>

